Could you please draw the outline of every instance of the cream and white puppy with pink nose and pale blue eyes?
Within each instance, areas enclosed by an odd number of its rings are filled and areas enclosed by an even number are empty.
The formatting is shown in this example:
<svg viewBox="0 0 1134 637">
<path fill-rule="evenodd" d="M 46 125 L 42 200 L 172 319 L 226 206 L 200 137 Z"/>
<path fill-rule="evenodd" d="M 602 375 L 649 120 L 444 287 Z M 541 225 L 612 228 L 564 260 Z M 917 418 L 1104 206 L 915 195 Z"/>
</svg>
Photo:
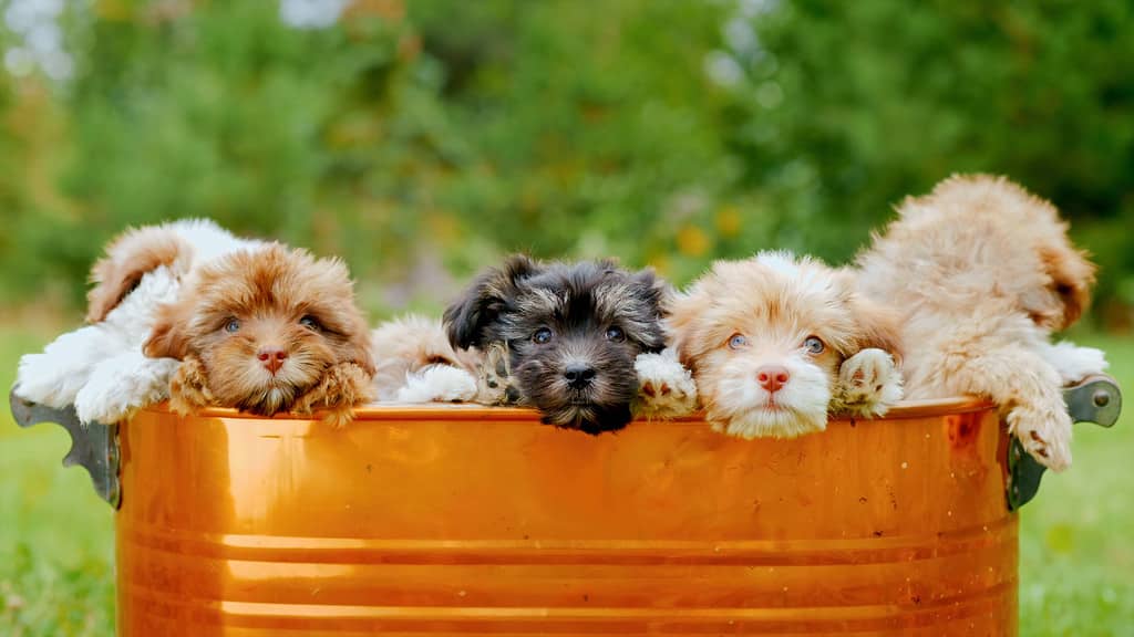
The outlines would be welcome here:
<svg viewBox="0 0 1134 637">
<path fill-rule="evenodd" d="M 672 301 L 668 326 L 706 419 L 731 435 L 819 432 L 828 410 L 881 415 L 902 398 L 894 316 L 807 257 L 719 261 Z"/>
</svg>

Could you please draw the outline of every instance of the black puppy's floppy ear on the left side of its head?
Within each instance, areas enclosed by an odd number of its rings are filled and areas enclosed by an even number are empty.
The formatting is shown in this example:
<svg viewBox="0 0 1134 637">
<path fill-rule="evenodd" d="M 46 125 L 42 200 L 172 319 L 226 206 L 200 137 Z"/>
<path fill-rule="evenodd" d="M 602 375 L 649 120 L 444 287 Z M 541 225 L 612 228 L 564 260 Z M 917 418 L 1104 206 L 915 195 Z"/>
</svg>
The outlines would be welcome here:
<svg viewBox="0 0 1134 637">
<path fill-rule="evenodd" d="M 500 267 L 490 267 L 473 281 L 464 296 L 445 311 L 445 329 L 454 347 L 468 349 L 484 345 L 484 329 L 500 315 L 517 283 L 542 266 L 522 254 L 509 256 Z"/>
</svg>

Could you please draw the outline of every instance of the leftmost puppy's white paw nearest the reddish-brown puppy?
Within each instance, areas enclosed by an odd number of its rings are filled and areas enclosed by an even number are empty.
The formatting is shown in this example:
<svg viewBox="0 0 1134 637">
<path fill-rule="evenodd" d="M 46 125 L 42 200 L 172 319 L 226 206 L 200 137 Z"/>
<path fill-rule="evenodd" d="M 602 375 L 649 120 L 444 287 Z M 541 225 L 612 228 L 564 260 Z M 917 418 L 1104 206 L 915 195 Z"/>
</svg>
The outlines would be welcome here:
<svg viewBox="0 0 1134 637">
<path fill-rule="evenodd" d="M 179 364 L 174 358 L 145 358 L 141 353 L 103 360 L 75 397 L 75 414 L 83 424 L 124 421 L 169 398 L 169 380 Z"/>
</svg>

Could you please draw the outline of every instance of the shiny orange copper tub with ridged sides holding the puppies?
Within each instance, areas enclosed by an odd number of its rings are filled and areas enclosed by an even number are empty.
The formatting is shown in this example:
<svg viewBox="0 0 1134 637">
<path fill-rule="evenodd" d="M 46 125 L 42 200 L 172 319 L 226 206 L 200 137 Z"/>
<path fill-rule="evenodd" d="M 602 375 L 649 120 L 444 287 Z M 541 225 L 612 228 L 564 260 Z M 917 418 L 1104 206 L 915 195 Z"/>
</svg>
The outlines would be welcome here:
<svg viewBox="0 0 1134 637">
<path fill-rule="evenodd" d="M 124 636 L 1016 630 L 1007 439 L 975 400 L 790 441 L 463 406 L 119 435 Z"/>
</svg>

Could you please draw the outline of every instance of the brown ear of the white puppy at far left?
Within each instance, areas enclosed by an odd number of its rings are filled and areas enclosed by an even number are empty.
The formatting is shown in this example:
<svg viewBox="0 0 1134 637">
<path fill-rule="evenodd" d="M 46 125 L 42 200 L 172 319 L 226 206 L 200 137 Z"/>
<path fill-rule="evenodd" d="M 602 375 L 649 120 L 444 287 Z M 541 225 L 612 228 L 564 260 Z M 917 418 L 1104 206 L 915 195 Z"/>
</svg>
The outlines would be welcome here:
<svg viewBox="0 0 1134 637">
<path fill-rule="evenodd" d="M 91 269 L 94 288 L 86 295 L 86 320 L 98 323 L 137 287 L 147 272 L 188 261 L 188 244 L 167 228 L 130 229 L 107 246 Z"/>
</svg>

